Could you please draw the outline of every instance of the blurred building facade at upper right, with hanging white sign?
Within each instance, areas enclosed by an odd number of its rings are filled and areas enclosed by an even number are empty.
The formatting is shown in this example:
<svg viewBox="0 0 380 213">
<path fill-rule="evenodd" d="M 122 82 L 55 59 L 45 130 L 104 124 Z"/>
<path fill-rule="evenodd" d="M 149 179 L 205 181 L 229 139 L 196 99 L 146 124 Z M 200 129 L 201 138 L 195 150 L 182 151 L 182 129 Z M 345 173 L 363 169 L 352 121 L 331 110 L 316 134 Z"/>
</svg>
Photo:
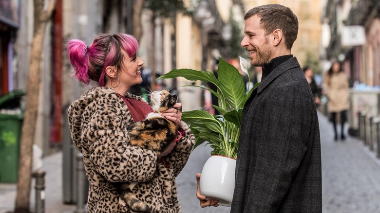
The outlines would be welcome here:
<svg viewBox="0 0 380 213">
<path fill-rule="evenodd" d="M 325 55 L 330 61 L 343 62 L 351 87 L 358 84 L 380 87 L 379 9 L 377 0 L 327 1 L 324 19 L 328 21 L 331 39 Z M 360 31 L 349 31 L 352 27 Z"/>
</svg>

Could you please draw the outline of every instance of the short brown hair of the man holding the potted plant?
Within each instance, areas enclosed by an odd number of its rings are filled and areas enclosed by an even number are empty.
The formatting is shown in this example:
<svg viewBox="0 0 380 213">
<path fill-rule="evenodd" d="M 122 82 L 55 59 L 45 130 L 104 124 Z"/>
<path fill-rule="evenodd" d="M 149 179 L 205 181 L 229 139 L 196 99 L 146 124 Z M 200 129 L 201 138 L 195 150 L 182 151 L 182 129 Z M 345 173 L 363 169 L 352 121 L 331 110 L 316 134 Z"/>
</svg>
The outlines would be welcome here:
<svg viewBox="0 0 380 213">
<path fill-rule="evenodd" d="M 282 30 L 286 48 L 292 48 L 298 34 L 298 19 L 290 8 L 281 4 L 266 4 L 250 9 L 244 19 L 247 20 L 254 15 L 260 17 L 260 25 L 266 34 L 276 29 Z"/>
</svg>

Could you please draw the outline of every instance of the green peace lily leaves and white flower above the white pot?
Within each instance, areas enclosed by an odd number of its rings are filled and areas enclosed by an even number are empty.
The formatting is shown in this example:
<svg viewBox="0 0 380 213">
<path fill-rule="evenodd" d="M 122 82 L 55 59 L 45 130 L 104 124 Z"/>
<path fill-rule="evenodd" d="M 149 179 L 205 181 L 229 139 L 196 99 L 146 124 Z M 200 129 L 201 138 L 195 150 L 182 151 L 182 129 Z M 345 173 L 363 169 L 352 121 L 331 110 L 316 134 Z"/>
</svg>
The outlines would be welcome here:
<svg viewBox="0 0 380 213">
<path fill-rule="evenodd" d="M 241 69 L 248 75 L 247 61 L 240 57 Z M 184 77 L 190 81 L 209 82 L 216 86 L 217 90 L 205 86 L 187 85 L 209 90 L 218 97 L 219 106 L 214 106 L 221 115 L 212 115 L 205 110 L 192 110 L 182 112 L 182 120 L 190 124 L 190 129 L 195 136 L 193 149 L 204 142 L 208 142 L 213 149 L 211 155 L 222 155 L 236 159 L 240 136 L 243 107 L 252 90 L 244 85 L 243 77 L 239 71 L 222 58 L 219 58 L 218 78 L 212 71 L 196 71 L 191 69 L 172 70 L 159 79 Z M 249 84 L 248 84 L 249 85 Z"/>
</svg>

